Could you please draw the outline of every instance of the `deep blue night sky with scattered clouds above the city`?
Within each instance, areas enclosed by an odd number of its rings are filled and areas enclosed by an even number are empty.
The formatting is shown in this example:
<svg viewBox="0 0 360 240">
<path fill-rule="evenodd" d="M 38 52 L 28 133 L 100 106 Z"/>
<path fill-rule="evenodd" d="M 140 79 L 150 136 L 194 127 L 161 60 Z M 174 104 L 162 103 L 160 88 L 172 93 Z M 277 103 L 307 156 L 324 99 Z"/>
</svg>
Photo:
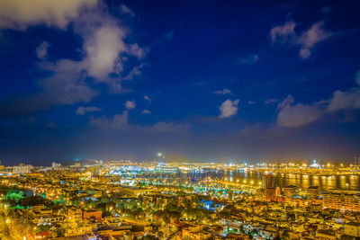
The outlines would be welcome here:
<svg viewBox="0 0 360 240">
<path fill-rule="evenodd" d="M 359 7 L 3 0 L 0 159 L 351 163 Z"/>
</svg>

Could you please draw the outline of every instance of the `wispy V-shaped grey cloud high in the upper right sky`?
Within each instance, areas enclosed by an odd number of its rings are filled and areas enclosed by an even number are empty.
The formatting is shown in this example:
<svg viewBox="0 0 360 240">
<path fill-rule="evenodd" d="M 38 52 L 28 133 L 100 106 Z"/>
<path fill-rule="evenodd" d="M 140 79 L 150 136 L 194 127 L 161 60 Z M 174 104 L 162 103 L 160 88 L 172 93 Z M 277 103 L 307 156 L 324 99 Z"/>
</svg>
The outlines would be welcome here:
<svg viewBox="0 0 360 240">
<path fill-rule="evenodd" d="M 271 40 L 273 43 L 300 45 L 299 55 L 304 59 L 311 57 L 311 51 L 317 43 L 332 36 L 331 32 L 324 30 L 324 22 L 314 23 L 310 29 L 301 34 L 295 33 L 295 26 L 295 22 L 285 22 L 284 25 L 275 26 L 270 31 Z"/>
</svg>

